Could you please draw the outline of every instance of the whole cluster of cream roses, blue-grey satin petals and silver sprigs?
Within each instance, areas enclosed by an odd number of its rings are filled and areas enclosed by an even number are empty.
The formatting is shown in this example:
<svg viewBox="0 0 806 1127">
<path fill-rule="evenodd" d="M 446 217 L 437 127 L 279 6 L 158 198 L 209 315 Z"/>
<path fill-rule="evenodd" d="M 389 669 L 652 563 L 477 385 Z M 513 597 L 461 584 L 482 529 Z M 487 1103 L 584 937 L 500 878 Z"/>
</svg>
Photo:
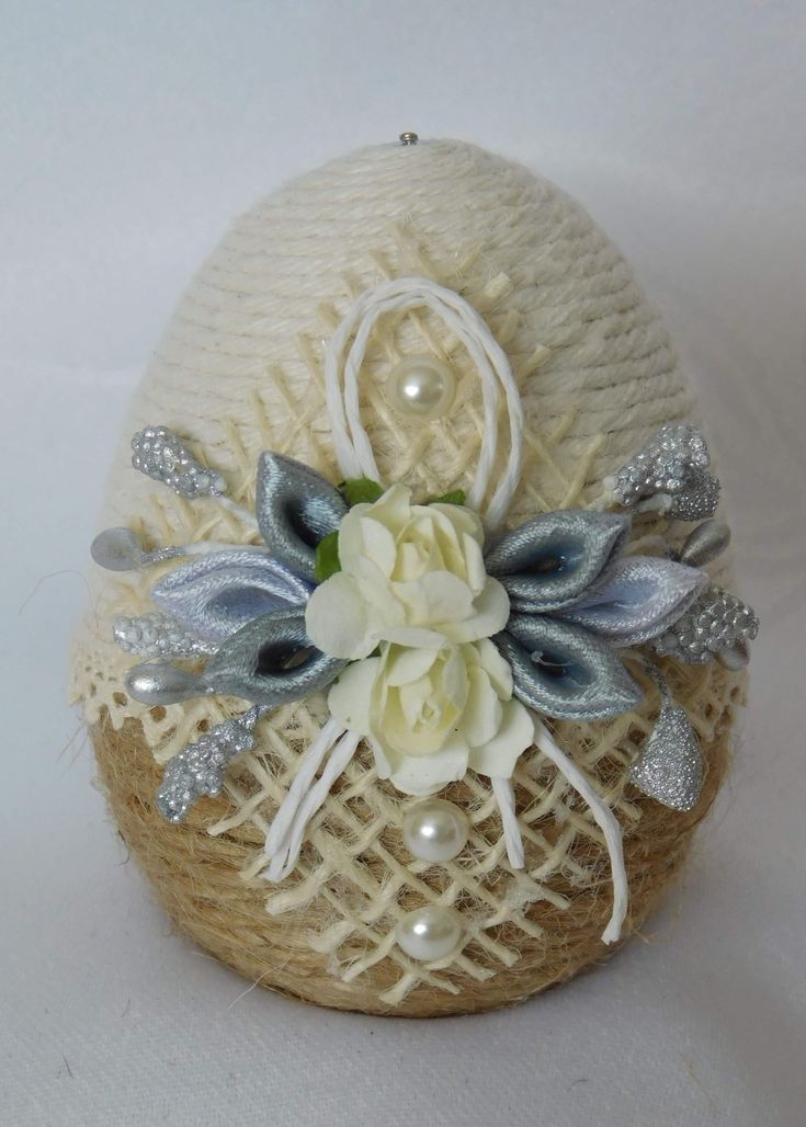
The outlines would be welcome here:
<svg viewBox="0 0 806 1127">
<path fill-rule="evenodd" d="M 614 888 L 618 876 L 623 891 L 612 814 L 543 720 L 636 708 L 643 690 L 626 660 L 637 647 L 662 708 L 631 781 L 675 809 L 697 802 L 699 744 L 653 655 L 737 668 L 759 623 L 702 569 L 729 533 L 712 518 L 718 482 L 690 424 L 664 427 L 600 504 L 541 514 L 493 538 L 461 492 L 416 502 L 399 483 L 335 486 L 271 452 L 258 462 L 253 515 L 172 432 L 149 427 L 133 447 L 141 472 L 237 512 L 263 541 L 147 551 L 121 527 L 94 542 L 96 561 L 113 570 L 184 558 L 153 585 L 154 611 L 114 623 L 117 642 L 147 659 L 127 673 L 131 696 L 153 706 L 225 694 L 250 704 L 169 762 L 157 796 L 169 820 L 221 790 L 231 760 L 255 747 L 264 713 L 326 691 L 330 719 L 267 836 L 269 879 L 293 869 L 308 822 L 361 740 L 379 777 L 407 795 L 433 795 L 469 770 L 489 778 L 510 862 L 522 866 L 510 780 L 537 743 L 605 829 Z M 645 508 L 703 523 L 680 551 L 635 554 L 632 511 Z M 618 898 L 605 941 L 626 911 L 626 894 Z"/>
</svg>

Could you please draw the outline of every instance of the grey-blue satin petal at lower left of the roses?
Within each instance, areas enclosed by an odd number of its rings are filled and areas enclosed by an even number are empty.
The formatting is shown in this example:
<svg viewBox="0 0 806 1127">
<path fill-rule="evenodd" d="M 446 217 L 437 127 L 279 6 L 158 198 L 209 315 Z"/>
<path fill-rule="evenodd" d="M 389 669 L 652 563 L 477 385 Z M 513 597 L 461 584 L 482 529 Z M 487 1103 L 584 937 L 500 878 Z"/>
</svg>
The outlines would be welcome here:
<svg viewBox="0 0 806 1127">
<path fill-rule="evenodd" d="M 346 664 L 315 648 L 303 610 L 276 611 L 225 641 L 203 681 L 212 692 L 276 708 L 325 689 Z"/>
</svg>

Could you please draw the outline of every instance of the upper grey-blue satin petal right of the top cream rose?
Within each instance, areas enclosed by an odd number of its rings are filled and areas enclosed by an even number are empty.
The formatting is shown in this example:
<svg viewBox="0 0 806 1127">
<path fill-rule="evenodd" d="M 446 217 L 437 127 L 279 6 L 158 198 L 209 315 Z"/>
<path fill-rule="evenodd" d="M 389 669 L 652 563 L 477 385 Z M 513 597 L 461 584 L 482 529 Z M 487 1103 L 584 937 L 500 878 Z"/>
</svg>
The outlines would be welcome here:
<svg viewBox="0 0 806 1127">
<path fill-rule="evenodd" d="M 513 611 L 553 611 L 606 579 L 629 531 L 625 514 L 544 513 L 488 549 L 487 571 L 506 587 Z"/>
</svg>

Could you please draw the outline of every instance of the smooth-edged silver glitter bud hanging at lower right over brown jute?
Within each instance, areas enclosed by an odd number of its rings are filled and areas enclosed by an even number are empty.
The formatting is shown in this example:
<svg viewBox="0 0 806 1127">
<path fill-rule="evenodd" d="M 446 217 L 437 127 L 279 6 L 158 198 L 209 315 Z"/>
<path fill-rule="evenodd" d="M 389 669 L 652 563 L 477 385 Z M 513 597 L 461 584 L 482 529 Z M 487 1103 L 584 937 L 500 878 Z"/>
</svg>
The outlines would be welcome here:
<svg viewBox="0 0 806 1127">
<path fill-rule="evenodd" d="M 697 806 L 702 792 L 702 752 L 685 710 L 673 701 L 664 701 L 629 778 L 638 790 L 672 810 Z"/>
</svg>

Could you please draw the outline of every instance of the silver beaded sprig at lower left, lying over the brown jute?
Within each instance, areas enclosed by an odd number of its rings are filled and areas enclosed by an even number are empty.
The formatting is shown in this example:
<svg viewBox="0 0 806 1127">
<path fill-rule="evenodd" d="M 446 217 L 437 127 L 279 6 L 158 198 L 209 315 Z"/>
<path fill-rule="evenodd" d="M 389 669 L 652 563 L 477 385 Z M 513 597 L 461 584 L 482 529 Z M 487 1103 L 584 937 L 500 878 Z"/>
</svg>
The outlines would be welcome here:
<svg viewBox="0 0 806 1127">
<path fill-rule="evenodd" d="M 167 822 L 183 822 L 203 795 L 221 793 L 230 761 L 255 746 L 255 725 L 263 711 L 256 704 L 224 720 L 170 760 L 157 791 L 157 809 Z"/>
</svg>

